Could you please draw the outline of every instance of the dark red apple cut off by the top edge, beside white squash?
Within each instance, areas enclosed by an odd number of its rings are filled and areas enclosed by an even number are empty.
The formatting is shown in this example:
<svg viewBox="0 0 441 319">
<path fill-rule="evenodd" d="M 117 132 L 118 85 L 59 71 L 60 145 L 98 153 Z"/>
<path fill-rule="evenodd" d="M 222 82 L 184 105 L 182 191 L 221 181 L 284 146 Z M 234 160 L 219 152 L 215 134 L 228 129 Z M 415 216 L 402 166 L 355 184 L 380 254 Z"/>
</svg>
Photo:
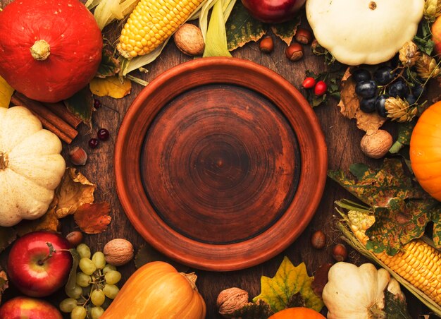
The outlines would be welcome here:
<svg viewBox="0 0 441 319">
<path fill-rule="evenodd" d="M 294 18 L 305 0 L 242 0 L 251 16 L 266 23 L 280 23 Z"/>
</svg>

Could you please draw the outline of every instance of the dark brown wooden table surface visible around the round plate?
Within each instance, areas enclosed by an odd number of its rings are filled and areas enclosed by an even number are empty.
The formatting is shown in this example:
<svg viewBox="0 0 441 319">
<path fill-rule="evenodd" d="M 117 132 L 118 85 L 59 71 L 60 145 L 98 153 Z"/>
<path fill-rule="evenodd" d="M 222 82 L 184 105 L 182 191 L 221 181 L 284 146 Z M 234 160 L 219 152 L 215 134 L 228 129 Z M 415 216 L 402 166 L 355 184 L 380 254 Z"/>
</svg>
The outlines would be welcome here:
<svg viewBox="0 0 441 319">
<path fill-rule="evenodd" d="M 11 1 L 1 0 L 0 7 L 4 7 L 8 2 Z M 305 20 L 306 19 L 302 20 L 304 25 Z M 304 59 L 297 62 L 289 61 L 285 57 L 285 44 L 274 35 L 272 36 L 275 40 L 275 50 L 271 54 L 262 54 L 259 51 L 258 44 L 251 42 L 245 47 L 232 52 L 232 56 L 254 61 L 257 64 L 266 66 L 283 76 L 296 88 L 300 88 L 306 70 L 315 71 L 316 73 L 325 70 L 323 59 L 318 56 L 313 56 L 309 46 L 305 47 Z M 170 41 L 161 56 L 159 56 L 154 63 L 147 66 L 149 70 L 148 73 L 135 72 L 132 74 L 144 80 L 151 81 L 169 68 L 182 64 L 190 59 L 192 58 L 181 54 L 175 47 L 173 41 Z M 97 112 L 93 114 L 92 133 L 89 133 L 87 128 L 82 126 L 80 128 L 80 135 L 75 138 L 71 145 L 63 143 L 63 155 L 65 155 L 66 159 L 68 158 L 66 156 L 68 151 L 76 145 L 87 150 L 89 155 L 87 164 L 84 167 L 79 167 L 78 170 L 87 176 L 90 181 L 97 183 L 97 190 L 95 192 L 96 201 L 107 201 L 111 204 L 112 221 L 108 229 L 102 234 L 85 236 L 85 243 L 91 246 L 92 251 L 102 250 L 107 241 L 115 238 L 128 239 L 135 246 L 135 251 L 145 243 L 144 239 L 137 234 L 137 231 L 135 231 L 132 224 L 130 224 L 118 201 L 116 182 L 113 174 L 113 150 L 118 128 L 125 112 L 142 88 L 141 85 L 133 84 L 130 95 L 120 100 L 109 97 L 99 98 L 102 105 L 97 109 Z M 381 160 L 369 159 L 361 152 L 359 143 L 364 132 L 356 128 L 354 120 L 346 119 L 340 114 L 337 102 L 336 100 L 329 100 L 327 104 L 314 109 L 328 145 L 329 169 L 347 169 L 349 164 L 354 162 L 364 162 L 378 166 Z M 108 131 L 110 131 L 111 138 L 105 143 L 101 143 L 97 149 L 92 150 L 88 148 L 87 141 L 94 136 L 99 128 L 107 128 Z M 70 165 L 68 159 L 66 162 Z M 315 190 L 311 189 L 311 191 Z M 338 186 L 337 183 L 328 179 L 321 203 L 309 226 L 290 247 L 265 263 L 234 272 L 194 270 L 198 275 L 197 287 L 206 301 L 206 318 L 221 318 L 221 315 L 218 315 L 216 298 L 223 289 L 240 287 L 249 292 L 250 298 L 258 295 L 260 293 L 260 277 L 262 275 L 273 277 L 285 255 L 290 258 L 294 265 L 304 261 L 310 275 L 313 275 L 323 263 L 333 263 L 334 260 L 330 252 L 331 248 L 335 243 L 342 242 L 340 233 L 333 224 L 335 221 L 333 203 L 335 200 L 341 198 L 352 198 L 352 196 Z M 75 222 L 73 222 L 71 217 L 62 219 L 61 224 L 63 234 L 68 234 L 68 232 L 76 228 Z M 311 234 L 318 229 L 325 232 L 328 240 L 327 246 L 320 251 L 312 248 L 310 243 Z M 349 252 L 350 262 L 361 263 L 366 261 L 355 251 L 349 249 Z M 135 264 L 130 262 L 128 265 L 120 267 L 119 270 L 123 273 L 124 281 L 135 271 Z M 13 294 L 15 294 L 14 289 L 9 289 L 9 291 L 6 292 L 5 298 L 8 299 Z M 418 315 L 428 313 L 427 309 L 424 308 L 414 296 L 407 292 L 406 296 L 408 297 L 409 311 L 414 318 L 418 318 Z M 55 298 L 54 300 L 58 299 Z"/>
</svg>

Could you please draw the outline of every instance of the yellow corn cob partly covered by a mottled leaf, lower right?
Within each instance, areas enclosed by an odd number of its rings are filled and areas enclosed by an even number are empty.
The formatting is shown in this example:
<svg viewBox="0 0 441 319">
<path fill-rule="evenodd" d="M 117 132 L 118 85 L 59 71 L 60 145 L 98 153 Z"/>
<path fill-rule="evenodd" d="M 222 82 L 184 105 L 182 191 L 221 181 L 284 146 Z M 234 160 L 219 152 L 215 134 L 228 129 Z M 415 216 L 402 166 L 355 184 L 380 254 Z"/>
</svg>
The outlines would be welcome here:
<svg viewBox="0 0 441 319">
<path fill-rule="evenodd" d="M 356 239 L 366 246 L 368 242 L 366 229 L 372 226 L 375 217 L 356 210 L 350 210 L 347 216 Z M 439 251 L 421 239 L 414 239 L 396 255 L 375 253 L 375 256 L 441 306 L 441 253 Z"/>
</svg>

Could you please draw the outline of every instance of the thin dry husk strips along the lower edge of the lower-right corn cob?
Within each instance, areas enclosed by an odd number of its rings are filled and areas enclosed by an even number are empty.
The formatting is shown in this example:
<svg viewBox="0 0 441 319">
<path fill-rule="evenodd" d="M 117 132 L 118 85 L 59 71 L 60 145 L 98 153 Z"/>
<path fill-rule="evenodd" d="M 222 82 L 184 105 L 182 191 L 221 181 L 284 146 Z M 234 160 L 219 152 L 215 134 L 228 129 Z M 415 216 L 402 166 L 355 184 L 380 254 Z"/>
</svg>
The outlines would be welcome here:
<svg viewBox="0 0 441 319">
<path fill-rule="evenodd" d="M 407 290 L 411 292 L 411 294 L 414 294 L 416 298 L 418 298 L 422 303 L 424 303 L 428 308 L 430 308 L 433 313 L 435 313 L 438 316 L 441 316 L 441 306 L 435 303 L 432 299 L 430 299 L 426 294 L 423 293 L 420 289 L 417 289 L 412 285 L 410 282 L 408 282 L 406 279 L 398 275 L 396 272 L 394 272 L 390 267 L 387 267 L 385 263 L 383 263 L 380 259 L 378 259 L 374 253 L 371 251 L 368 251 L 366 246 L 364 246 L 359 239 L 354 236 L 351 230 L 351 222 L 349 221 L 349 218 L 347 217 L 346 213 L 340 210 L 340 208 L 343 208 L 345 210 L 359 210 L 360 212 L 369 212 L 368 207 L 364 205 L 359 205 L 351 200 L 340 200 L 335 202 L 337 207 L 335 210 L 340 214 L 342 219 L 340 219 L 340 222 L 337 222 L 337 227 L 342 231 L 343 239 L 346 241 L 352 248 L 354 248 L 356 251 L 361 253 L 361 255 L 364 255 L 369 260 L 372 260 L 374 263 L 377 263 L 381 267 L 385 268 L 388 272 L 390 272 L 390 275 L 397 279 L 397 281 L 402 284 L 403 287 L 405 287 Z M 422 240 L 426 241 L 430 246 L 435 247 L 433 244 L 433 241 L 430 241 L 427 237 L 423 236 L 421 238 Z"/>
</svg>

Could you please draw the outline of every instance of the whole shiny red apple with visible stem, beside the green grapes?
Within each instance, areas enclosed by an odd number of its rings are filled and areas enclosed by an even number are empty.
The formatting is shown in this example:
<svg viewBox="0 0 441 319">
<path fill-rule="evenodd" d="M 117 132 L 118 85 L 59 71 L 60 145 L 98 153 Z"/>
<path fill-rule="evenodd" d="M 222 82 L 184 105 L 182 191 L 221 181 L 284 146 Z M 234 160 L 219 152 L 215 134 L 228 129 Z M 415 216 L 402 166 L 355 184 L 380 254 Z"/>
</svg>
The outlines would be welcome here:
<svg viewBox="0 0 441 319">
<path fill-rule="evenodd" d="M 54 253 L 49 256 L 49 246 Z M 66 284 L 72 255 L 69 242 L 61 235 L 34 231 L 15 241 L 8 255 L 8 276 L 23 294 L 49 296 Z"/>
</svg>

